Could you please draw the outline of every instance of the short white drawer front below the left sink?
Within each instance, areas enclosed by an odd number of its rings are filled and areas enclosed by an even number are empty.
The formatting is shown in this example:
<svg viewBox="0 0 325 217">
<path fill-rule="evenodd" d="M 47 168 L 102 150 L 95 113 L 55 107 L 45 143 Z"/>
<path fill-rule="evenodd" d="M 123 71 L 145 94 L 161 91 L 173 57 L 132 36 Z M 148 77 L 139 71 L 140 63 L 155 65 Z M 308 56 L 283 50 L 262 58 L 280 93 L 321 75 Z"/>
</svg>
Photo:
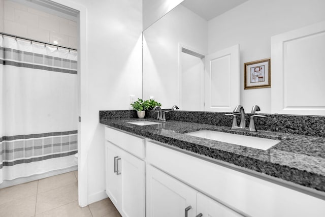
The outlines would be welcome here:
<svg viewBox="0 0 325 217">
<path fill-rule="evenodd" d="M 105 127 L 105 139 L 127 152 L 144 159 L 144 138 Z"/>
</svg>

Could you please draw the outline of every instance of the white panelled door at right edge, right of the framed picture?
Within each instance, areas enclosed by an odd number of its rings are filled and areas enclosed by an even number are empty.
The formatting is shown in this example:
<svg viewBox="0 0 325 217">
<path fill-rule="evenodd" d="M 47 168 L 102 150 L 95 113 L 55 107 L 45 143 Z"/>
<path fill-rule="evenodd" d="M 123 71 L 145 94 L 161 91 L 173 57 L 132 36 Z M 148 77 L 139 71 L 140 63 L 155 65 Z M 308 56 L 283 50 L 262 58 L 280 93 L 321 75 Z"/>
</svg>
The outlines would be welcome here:
<svg viewBox="0 0 325 217">
<path fill-rule="evenodd" d="M 325 115 L 325 22 L 271 38 L 271 112 Z"/>
</svg>

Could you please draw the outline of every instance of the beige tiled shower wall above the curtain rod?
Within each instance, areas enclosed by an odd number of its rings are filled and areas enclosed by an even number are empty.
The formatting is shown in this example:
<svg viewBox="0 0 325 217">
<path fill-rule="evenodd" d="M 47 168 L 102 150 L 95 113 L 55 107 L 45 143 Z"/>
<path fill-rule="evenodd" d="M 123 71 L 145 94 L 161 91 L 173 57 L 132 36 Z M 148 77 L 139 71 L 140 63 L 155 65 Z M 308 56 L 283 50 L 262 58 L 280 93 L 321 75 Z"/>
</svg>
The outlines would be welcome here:
<svg viewBox="0 0 325 217">
<path fill-rule="evenodd" d="M 0 32 L 77 48 L 77 22 L 0 0 Z"/>
</svg>

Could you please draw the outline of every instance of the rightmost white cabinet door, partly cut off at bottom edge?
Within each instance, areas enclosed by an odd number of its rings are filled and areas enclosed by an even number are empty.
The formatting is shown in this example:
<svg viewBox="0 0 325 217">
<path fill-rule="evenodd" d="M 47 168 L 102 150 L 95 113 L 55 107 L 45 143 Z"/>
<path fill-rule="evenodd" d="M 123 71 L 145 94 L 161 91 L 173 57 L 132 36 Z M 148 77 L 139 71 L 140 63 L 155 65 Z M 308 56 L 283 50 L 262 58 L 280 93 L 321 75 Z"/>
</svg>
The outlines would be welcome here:
<svg viewBox="0 0 325 217">
<path fill-rule="evenodd" d="M 202 217 L 239 217 L 234 210 L 218 203 L 204 194 L 197 194 L 197 215 Z"/>
</svg>

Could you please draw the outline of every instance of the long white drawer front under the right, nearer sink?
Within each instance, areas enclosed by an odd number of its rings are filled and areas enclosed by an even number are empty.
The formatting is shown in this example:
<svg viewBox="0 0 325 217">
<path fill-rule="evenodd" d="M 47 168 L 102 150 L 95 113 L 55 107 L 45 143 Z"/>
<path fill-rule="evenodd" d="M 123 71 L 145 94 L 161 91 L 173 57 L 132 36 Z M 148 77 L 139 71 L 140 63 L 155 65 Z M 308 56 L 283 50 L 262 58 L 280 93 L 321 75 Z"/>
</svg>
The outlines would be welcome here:
<svg viewBox="0 0 325 217">
<path fill-rule="evenodd" d="M 147 162 L 250 216 L 325 216 L 325 200 L 147 141 Z"/>
</svg>

